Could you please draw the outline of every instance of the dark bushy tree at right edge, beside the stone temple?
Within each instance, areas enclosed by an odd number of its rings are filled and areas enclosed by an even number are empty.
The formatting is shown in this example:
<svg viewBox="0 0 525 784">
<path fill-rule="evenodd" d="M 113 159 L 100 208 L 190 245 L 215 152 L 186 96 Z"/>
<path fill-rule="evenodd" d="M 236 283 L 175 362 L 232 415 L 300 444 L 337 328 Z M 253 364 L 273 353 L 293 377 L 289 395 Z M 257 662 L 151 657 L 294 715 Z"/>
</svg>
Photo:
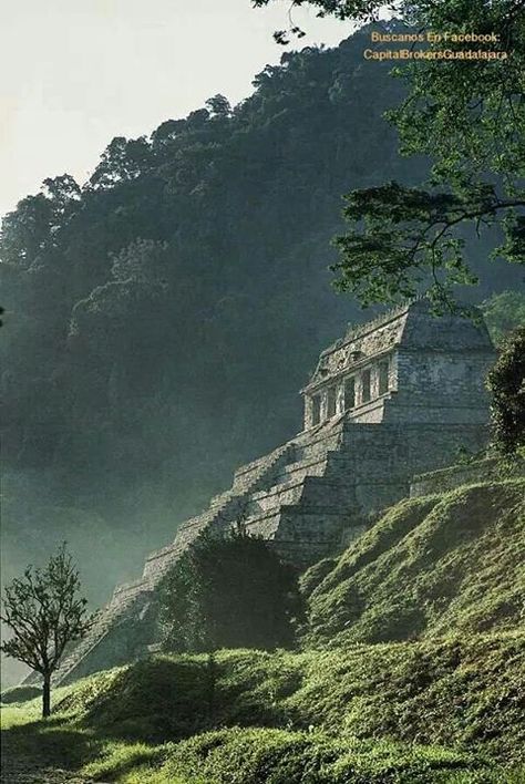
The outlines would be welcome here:
<svg viewBox="0 0 525 784">
<path fill-rule="evenodd" d="M 525 445 L 525 327 L 511 332 L 501 348 L 487 379 L 492 427 L 498 452 L 512 455 Z"/>
</svg>

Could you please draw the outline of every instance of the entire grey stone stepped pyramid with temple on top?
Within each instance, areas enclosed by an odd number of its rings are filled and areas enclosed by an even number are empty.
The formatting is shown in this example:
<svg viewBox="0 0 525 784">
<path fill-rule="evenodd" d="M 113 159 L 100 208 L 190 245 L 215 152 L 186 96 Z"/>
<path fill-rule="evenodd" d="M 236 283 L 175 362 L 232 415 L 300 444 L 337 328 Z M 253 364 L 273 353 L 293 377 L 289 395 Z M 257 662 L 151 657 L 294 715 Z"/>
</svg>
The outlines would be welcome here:
<svg viewBox="0 0 525 784">
<path fill-rule="evenodd" d="M 152 640 L 155 590 L 204 530 L 239 516 L 299 566 L 340 550 L 378 512 L 409 494 L 414 474 L 486 443 L 486 371 L 494 349 L 483 324 L 436 319 L 425 300 L 349 329 L 320 355 L 302 390 L 305 426 L 238 468 L 231 487 L 152 553 L 142 577 L 117 587 L 58 682 L 128 661 Z"/>
</svg>

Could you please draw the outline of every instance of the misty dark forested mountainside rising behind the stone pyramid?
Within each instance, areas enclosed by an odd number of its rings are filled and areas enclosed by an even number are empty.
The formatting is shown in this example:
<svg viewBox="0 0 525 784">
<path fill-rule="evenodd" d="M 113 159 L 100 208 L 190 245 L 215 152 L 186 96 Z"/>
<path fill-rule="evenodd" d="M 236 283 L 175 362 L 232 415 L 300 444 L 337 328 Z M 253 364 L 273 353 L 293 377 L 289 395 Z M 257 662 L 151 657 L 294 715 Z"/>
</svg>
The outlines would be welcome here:
<svg viewBox="0 0 525 784">
<path fill-rule="evenodd" d="M 13 569 L 65 537 L 101 600 L 300 426 L 319 349 L 361 318 L 327 271 L 341 195 L 424 166 L 397 154 L 382 114 L 402 85 L 363 63 L 364 35 L 285 54 L 234 109 L 114 138 L 87 183 L 48 179 L 4 218 Z"/>
</svg>

